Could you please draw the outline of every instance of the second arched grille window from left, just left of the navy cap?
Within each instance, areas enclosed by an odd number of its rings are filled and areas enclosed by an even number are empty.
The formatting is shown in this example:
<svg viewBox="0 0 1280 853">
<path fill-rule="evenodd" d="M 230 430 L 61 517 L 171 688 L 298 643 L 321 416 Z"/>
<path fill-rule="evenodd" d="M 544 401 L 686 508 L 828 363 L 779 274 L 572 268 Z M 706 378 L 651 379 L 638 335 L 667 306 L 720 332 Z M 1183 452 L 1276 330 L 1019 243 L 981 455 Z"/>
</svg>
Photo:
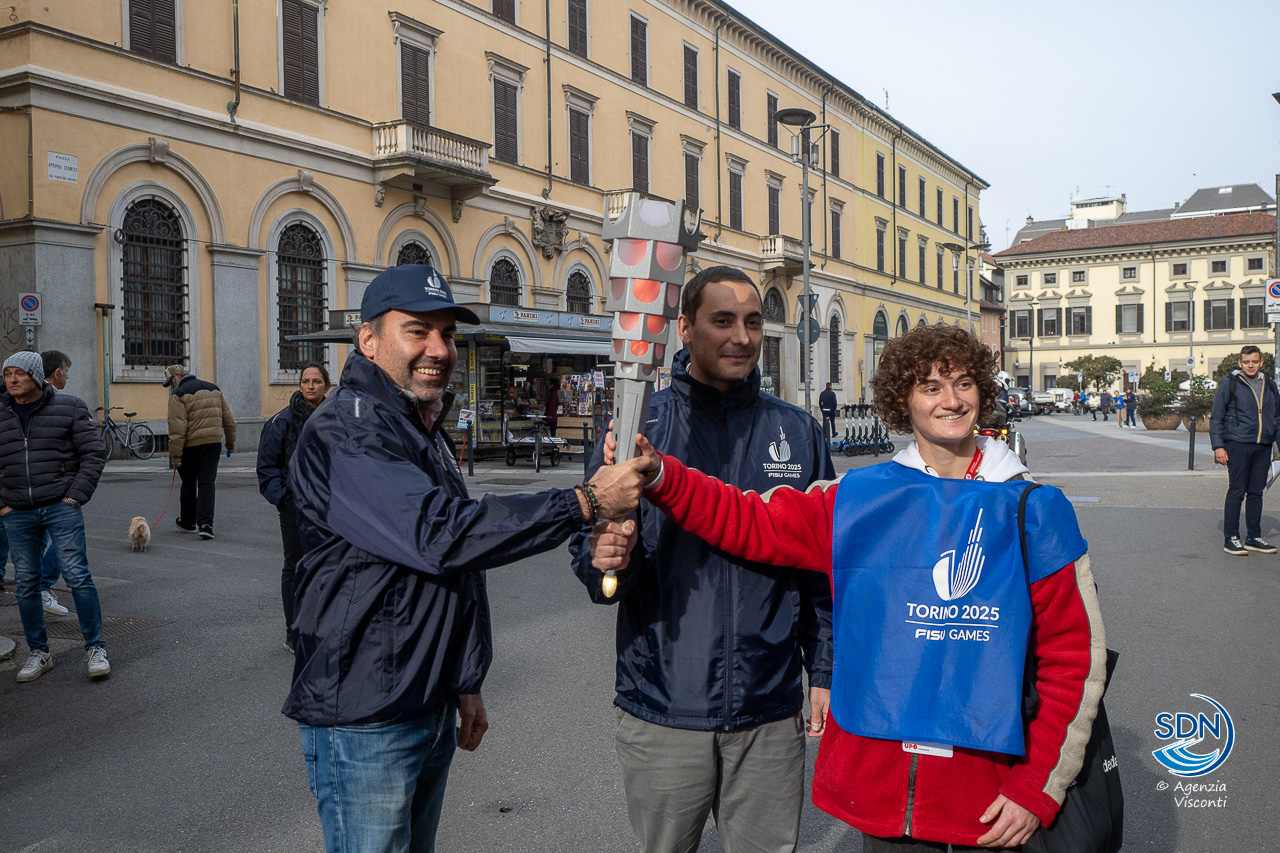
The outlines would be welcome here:
<svg viewBox="0 0 1280 853">
<path fill-rule="evenodd" d="M 280 370 L 298 370 L 307 361 L 325 364 L 325 345 L 291 341 L 296 334 L 325 328 L 324 243 L 306 223 L 296 222 L 280 232 L 275 248 L 276 316 L 279 318 Z"/>
</svg>

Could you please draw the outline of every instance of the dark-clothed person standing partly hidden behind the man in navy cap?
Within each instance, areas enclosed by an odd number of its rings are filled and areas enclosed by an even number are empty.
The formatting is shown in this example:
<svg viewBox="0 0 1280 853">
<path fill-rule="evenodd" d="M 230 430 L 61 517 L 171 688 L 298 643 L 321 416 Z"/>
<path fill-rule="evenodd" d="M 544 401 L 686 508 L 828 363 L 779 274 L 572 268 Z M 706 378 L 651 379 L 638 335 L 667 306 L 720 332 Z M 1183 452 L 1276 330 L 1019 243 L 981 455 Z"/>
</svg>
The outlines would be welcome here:
<svg viewBox="0 0 1280 853">
<path fill-rule="evenodd" d="M 302 366 L 298 389 L 289 397 L 289 405 L 275 412 L 262 428 L 257 444 L 257 491 L 280 516 L 280 540 L 284 546 L 284 566 L 280 569 L 280 602 L 284 605 L 284 649 L 293 653 L 293 573 L 302 558 L 298 539 L 298 516 L 289 491 L 289 460 L 298 446 L 298 435 L 311 412 L 329 393 L 329 370 L 323 364 L 308 361 Z"/>
</svg>

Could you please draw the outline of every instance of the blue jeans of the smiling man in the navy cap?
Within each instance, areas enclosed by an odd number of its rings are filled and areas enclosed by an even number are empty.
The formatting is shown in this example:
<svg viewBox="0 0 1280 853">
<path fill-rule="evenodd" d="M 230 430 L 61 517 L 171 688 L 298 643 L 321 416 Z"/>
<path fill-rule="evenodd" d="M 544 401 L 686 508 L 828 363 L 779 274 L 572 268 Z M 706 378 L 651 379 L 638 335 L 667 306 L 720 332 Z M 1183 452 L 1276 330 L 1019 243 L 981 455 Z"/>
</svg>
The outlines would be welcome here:
<svg viewBox="0 0 1280 853">
<path fill-rule="evenodd" d="M 302 730 L 329 853 L 434 853 L 457 748 L 451 702 L 413 720 Z"/>
</svg>

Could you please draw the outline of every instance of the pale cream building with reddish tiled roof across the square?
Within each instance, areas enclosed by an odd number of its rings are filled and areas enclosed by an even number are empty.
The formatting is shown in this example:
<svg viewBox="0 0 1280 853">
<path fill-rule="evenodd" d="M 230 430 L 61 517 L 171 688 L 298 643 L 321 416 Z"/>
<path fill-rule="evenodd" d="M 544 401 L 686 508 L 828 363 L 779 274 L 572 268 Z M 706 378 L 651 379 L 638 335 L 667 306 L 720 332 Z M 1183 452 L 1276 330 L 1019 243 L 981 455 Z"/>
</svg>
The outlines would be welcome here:
<svg viewBox="0 0 1280 853">
<path fill-rule="evenodd" d="M 1212 375 L 1245 343 L 1268 351 L 1275 234 L 1274 215 L 1235 213 L 1064 228 L 997 252 L 1006 369 L 1042 389 L 1057 384 L 1061 365 L 1110 355 L 1126 374 L 1153 366 L 1181 380 Z"/>
</svg>

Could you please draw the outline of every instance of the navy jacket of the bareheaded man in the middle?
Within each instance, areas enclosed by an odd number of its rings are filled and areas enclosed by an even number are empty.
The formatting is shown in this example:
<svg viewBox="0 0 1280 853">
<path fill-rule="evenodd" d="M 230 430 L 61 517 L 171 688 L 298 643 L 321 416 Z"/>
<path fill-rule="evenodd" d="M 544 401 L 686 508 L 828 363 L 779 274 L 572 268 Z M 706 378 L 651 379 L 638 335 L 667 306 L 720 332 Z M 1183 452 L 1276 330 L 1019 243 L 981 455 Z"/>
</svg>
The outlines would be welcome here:
<svg viewBox="0 0 1280 853">
<path fill-rule="evenodd" d="M 759 370 L 721 393 L 676 356 L 669 388 L 653 396 L 645 437 L 662 453 L 741 489 L 805 488 L 835 479 L 820 424 L 759 391 Z M 590 470 L 602 464 L 598 448 Z M 573 540 L 573 571 L 591 599 L 618 605 L 617 698 L 641 720 L 712 731 L 774 722 L 804 703 L 801 669 L 831 686 L 829 579 L 736 560 L 640 505 L 641 538 L 600 592 L 586 535 Z"/>
</svg>

